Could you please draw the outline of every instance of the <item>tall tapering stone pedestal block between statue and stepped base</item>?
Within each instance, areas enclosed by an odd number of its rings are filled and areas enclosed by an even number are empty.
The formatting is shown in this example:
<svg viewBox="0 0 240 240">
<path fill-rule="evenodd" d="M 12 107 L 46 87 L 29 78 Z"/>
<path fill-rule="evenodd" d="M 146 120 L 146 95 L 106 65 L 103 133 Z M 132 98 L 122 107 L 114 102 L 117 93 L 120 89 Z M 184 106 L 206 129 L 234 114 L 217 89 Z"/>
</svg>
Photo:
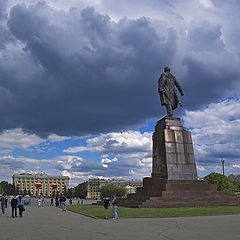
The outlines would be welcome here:
<svg viewBox="0 0 240 240">
<path fill-rule="evenodd" d="M 191 132 L 180 118 L 164 117 L 157 122 L 152 174 L 168 180 L 197 180 Z"/>
</svg>

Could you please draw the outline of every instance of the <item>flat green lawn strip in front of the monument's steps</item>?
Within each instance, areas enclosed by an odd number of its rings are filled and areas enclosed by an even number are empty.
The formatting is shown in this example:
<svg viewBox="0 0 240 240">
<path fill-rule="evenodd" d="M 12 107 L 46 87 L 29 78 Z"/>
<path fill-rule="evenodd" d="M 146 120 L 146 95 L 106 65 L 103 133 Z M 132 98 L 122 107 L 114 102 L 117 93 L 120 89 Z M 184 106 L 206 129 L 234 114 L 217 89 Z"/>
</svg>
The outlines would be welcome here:
<svg viewBox="0 0 240 240">
<path fill-rule="evenodd" d="M 99 205 L 72 205 L 67 210 L 96 218 L 104 218 L 104 207 Z M 136 217 L 179 217 L 240 214 L 240 207 L 182 207 L 182 208 L 125 208 L 118 207 L 120 218 Z M 108 209 L 108 217 L 113 218 L 113 209 Z"/>
</svg>

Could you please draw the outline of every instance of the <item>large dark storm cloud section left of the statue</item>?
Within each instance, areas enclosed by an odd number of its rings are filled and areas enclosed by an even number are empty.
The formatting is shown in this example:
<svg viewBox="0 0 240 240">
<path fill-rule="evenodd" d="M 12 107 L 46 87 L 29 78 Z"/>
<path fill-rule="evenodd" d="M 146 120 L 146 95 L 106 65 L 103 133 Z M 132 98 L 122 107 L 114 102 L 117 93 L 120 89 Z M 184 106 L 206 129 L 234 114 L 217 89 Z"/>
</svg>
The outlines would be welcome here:
<svg viewBox="0 0 240 240">
<path fill-rule="evenodd" d="M 10 119 L 1 126 L 78 135 L 124 129 L 158 114 L 156 77 L 173 56 L 173 30 L 159 36 L 144 18 L 115 23 L 93 8 L 60 12 L 63 24 L 59 16 L 48 19 L 48 11 L 43 3 L 10 11 L 8 27 L 34 71 L 11 75 L 1 65 L 7 94 L 0 109 Z"/>
</svg>

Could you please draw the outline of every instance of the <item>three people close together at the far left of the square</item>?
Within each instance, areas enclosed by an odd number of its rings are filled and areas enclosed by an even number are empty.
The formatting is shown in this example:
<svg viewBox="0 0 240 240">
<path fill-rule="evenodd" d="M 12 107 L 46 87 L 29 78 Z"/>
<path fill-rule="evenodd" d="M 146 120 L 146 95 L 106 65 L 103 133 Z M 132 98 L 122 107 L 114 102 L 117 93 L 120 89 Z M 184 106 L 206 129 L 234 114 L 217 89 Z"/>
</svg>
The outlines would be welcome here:
<svg viewBox="0 0 240 240">
<path fill-rule="evenodd" d="M 6 213 L 8 199 L 5 194 L 2 195 L 1 199 L 1 208 L 2 208 L 2 215 L 4 216 Z M 24 201 L 22 196 L 19 196 L 18 199 L 16 196 L 13 196 L 11 199 L 11 207 L 12 207 L 12 218 L 17 217 L 17 209 L 19 210 L 19 217 L 22 217 L 23 212 L 25 211 Z"/>
</svg>

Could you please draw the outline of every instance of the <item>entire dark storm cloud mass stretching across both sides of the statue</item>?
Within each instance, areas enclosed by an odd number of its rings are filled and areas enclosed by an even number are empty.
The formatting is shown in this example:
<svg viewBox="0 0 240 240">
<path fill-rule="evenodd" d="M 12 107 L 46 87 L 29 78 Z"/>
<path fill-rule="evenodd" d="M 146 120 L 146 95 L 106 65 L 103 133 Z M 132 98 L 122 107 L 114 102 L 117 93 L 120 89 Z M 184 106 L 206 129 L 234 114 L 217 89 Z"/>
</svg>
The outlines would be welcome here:
<svg viewBox="0 0 240 240">
<path fill-rule="evenodd" d="M 182 81 L 186 109 L 222 97 L 231 91 L 224 80 L 237 80 L 236 71 L 223 69 L 227 53 L 220 26 L 192 27 L 180 57 L 177 30 L 164 24 L 156 29 L 146 18 L 114 22 L 94 8 L 64 12 L 43 2 L 16 5 L 7 26 L 6 38 L 14 35 L 18 41 L 2 50 L 1 130 L 96 134 L 160 117 L 165 109 L 160 110 L 157 78 L 176 59 L 175 66 L 187 69 Z M 219 56 L 221 64 L 210 64 L 216 73 L 208 62 Z"/>
</svg>

